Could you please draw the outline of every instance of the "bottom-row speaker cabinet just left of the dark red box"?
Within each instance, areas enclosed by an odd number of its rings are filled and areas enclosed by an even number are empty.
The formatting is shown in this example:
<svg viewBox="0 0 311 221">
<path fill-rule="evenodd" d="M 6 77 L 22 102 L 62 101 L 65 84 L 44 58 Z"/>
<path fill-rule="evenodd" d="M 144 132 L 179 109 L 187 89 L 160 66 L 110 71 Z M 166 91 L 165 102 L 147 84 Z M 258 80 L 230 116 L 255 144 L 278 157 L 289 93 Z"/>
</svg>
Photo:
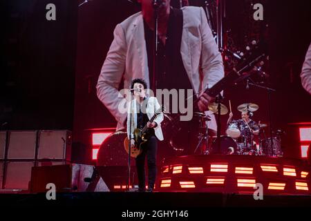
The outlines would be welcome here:
<svg viewBox="0 0 311 221">
<path fill-rule="evenodd" d="M 35 162 L 6 162 L 6 184 L 3 189 L 28 190 L 31 168 Z"/>
</svg>

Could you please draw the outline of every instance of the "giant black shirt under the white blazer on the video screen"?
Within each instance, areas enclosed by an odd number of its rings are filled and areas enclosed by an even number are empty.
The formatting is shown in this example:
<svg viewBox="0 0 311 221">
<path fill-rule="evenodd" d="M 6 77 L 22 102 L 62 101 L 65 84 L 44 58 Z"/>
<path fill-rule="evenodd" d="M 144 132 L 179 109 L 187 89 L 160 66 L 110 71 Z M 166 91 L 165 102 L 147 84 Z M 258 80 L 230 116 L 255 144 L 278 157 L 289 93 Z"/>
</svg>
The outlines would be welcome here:
<svg viewBox="0 0 311 221">
<path fill-rule="evenodd" d="M 153 85 L 153 30 L 144 21 L 144 37 L 146 40 L 149 79 L 151 89 L 191 89 L 191 83 L 182 63 L 180 44 L 182 39 L 182 10 L 171 8 L 167 25 L 167 39 L 165 45 L 158 38 L 158 73 Z"/>
</svg>

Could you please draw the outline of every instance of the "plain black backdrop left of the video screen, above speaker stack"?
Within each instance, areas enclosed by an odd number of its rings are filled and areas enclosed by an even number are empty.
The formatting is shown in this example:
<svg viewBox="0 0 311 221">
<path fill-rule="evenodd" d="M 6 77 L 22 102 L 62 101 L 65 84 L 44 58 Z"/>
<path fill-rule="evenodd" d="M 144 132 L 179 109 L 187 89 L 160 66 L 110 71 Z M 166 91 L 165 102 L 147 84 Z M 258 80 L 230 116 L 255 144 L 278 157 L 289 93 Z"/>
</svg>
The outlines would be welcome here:
<svg viewBox="0 0 311 221">
<path fill-rule="evenodd" d="M 46 20 L 46 5 L 56 21 Z M 1 1 L 2 129 L 72 129 L 77 39 L 74 1 Z"/>
</svg>

